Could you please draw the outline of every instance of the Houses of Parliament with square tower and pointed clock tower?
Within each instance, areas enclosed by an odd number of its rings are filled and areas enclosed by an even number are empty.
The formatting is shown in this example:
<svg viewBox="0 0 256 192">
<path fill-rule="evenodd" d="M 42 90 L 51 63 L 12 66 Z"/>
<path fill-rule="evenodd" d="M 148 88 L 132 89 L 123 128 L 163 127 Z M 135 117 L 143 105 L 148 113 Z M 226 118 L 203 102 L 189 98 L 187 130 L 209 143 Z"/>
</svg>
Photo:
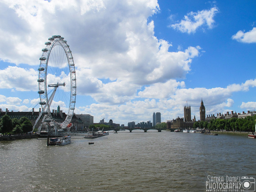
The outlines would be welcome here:
<svg viewBox="0 0 256 192">
<path fill-rule="evenodd" d="M 201 101 L 200 105 L 200 121 L 204 121 L 206 119 L 205 116 L 205 107 L 203 103 L 203 99 Z M 184 106 L 184 117 L 177 117 L 175 120 L 167 121 L 167 129 L 189 129 L 193 127 L 193 124 L 196 122 L 196 117 L 194 116 L 193 119 L 191 119 L 191 107 L 190 106 Z"/>
</svg>

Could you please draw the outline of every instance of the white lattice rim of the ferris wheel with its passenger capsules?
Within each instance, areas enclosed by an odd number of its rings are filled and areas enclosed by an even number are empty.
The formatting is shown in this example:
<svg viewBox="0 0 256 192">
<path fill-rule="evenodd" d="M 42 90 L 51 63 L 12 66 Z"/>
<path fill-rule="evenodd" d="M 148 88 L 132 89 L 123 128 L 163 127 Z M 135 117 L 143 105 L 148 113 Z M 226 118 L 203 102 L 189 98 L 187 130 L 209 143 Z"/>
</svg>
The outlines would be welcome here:
<svg viewBox="0 0 256 192">
<path fill-rule="evenodd" d="M 47 93 L 47 68 L 48 68 L 48 61 L 50 57 L 50 53 L 54 46 L 60 45 L 62 46 L 65 55 L 67 57 L 68 66 L 69 66 L 69 74 L 70 74 L 70 101 L 69 101 L 69 107 L 68 112 L 65 120 L 61 123 L 61 128 L 67 127 L 67 125 L 70 123 L 71 118 L 74 114 L 75 109 L 75 102 L 76 102 L 76 74 L 75 74 L 75 65 L 73 56 L 71 53 L 71 50 L 69 49 L 69 45 L 67 44 L 67 41 L 64 40 L 64 37 L 61 37 L 60 35 L 53 35 L 52 37 L 48 38 L 49 42 L 45 42 L 46 47 L 42 49 L 42 57 L 39 58 L 40 61 L 40 67 L 38 68 L 39 71 L 39 95 L 40 95 L 40 104 L 42 106 L 42 112 L 45 116 L 45 121 L 49 122 L 51 126 L 54 126 L 56 123 L 51 115 L 50 112 L 50 105 L 49 105 L 49 98 Z M 57 89 L 57 88 L 56 88 Z"/>
</svg>

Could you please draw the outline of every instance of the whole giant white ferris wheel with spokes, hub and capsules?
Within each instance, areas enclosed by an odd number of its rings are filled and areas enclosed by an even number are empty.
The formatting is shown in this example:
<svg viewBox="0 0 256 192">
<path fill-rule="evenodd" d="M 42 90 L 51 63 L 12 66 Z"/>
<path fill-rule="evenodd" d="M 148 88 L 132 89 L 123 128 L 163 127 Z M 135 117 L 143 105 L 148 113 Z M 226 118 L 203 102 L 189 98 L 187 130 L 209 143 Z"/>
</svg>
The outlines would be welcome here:
<svg viewBox="0 0 256 192">
<path fill-rule="evenodd" d="M 39 58 L 37 81 L 39 104 L 42 106 L 40 117 L 44 115 L 42 123 L 47 123 L 50 129 L 56 130 L 66 128 L 73 116 L 76 102 L 76 73 L 72 53 L 64 37 L 53 35 L 48 40 Z M 57 108 L 67 115 L 58 123 L 54 113 L 51 113 Z M 39 129 L 41 127 L 38 131 Z"/>
</svg>

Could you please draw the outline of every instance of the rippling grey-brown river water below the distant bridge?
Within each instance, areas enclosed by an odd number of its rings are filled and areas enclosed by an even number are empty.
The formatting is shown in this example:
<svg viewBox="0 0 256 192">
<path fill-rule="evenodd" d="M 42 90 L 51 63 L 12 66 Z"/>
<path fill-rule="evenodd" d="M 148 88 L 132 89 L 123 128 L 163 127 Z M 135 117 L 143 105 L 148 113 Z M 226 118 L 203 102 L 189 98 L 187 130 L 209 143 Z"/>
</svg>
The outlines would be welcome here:
<svg viewBox="0 0 256 192">
<path fill-rule="evenodd" d="M 206 191 L 208 176 L 255 178 L 255 146 L 246 136 L 153 131 L 65 146 L 0 141 L 0 191 Z"/>
</svg>

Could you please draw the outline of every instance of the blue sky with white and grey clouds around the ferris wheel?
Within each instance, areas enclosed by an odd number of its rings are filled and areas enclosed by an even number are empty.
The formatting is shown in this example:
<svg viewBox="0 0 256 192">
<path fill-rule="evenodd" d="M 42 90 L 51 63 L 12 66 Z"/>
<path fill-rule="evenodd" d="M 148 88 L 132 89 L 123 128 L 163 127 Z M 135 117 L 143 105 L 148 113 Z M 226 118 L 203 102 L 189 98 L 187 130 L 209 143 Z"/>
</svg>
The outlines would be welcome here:
<svg viewBox="0 0 256 192">
<path fill-rule="evenodd" d="M 41 49 L 61 35 L 76 67 L 75 113 L 127 125 L 254 110 L 256 1 L 0 2 L 0 108 L 38 110 Z M 56 101 L 57 102 L 57 101 Z"/>
</svg>

